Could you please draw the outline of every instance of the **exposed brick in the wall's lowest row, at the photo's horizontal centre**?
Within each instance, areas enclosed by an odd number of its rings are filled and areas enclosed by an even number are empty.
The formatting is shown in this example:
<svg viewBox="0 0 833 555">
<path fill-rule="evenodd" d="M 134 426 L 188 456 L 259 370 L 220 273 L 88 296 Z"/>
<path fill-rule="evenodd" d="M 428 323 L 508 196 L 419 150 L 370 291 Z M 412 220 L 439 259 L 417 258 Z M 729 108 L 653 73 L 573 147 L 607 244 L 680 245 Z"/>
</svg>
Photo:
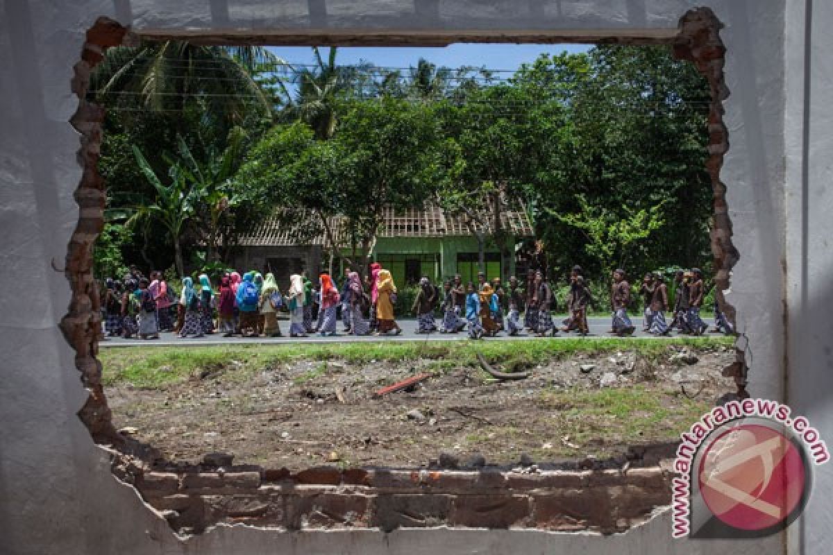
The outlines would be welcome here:
<svg viewBox="0 0 833 555">
<path fill-rule="evenodd" d="M 379 495 L 373 502 L 371 526 L 390 532 L 401 526 L 425 528 L 448 521 L 453 496 L 434 493 Z"/>
</svg>

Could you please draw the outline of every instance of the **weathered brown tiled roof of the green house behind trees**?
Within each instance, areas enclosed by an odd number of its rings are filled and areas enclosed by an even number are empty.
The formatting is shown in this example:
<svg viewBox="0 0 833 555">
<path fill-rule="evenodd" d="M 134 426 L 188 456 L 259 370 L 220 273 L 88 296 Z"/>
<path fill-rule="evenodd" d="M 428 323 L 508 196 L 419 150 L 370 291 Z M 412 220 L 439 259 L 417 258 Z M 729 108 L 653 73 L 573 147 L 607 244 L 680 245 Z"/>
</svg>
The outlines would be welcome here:
<svg viewBox="0 0 833 555">
<path fill-rule="evenodd" d="M 325 236 L 316 216 L 302 214 L 295 221 L 287 221 L 282 213 L 276 212 L 267 217 L 249 235 L 243 235 L 237 241 L 240 246 L 312 246 L 324 245 Z M 439 206 L 429 205 L 424 208 L 411 208 L 406 211 L 394 211 L 390 206 L 384 209 L 384 221 L 379 230 L 380 237 L 454 237 L 471 235 L 466 225 L 466 217 L 451 216 Z M 516 237 L 531 237 L 532 225 L 526 211 L 503 211 L 501 221 L 506 230 Z M 346 219 L 333 217 L 328 220 L 333 235 L 342 246 L 347 245 L 343 228 Z M 309 226 L 307 227 L 307 224 Z M 478 226 L 479 228 L 480 226 Z M 307 228 L 307 229 L 305 229 Z M 486 222 L 486 233 L 491 233 L 491 219 Z"/>
</svg>

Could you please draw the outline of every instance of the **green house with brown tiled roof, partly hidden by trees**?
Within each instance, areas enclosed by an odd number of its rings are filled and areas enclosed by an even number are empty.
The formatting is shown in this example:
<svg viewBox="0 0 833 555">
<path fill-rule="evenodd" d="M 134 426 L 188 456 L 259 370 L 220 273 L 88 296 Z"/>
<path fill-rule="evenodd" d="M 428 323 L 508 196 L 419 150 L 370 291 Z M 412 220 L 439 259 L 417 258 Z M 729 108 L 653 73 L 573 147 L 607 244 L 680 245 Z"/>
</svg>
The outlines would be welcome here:
<svg viewBox="0 0 833 555">
<path fill-rule="evenodd" d="M 330 221 L 342 255 L 352 251 L 342 233 L 342 219 Z M 474 225 L 486 235 L 486 275 L 501 275 L 501 255 L 491 240 L 491 222 L 485 229 Z M 504 211 L 501 225 L 507 231 L 507 245 L 513 254 L 506 274 L 515 272 L 516 245 L 532 236 L 532 226 L 525 211 Z M 262 268 L 272 271 L 276 279 L 288 281 L 289 275 L 306 270 L 316 275 L 327 268 L 329 253 L 322 233 L 303 236 L 294 225 L 287 225 L 279 215 L 267 218 L 252 234 L 237 243 L 235 265 L 240 268 Z M 390 270 L 397 285 L 415 284 L 422 275 L 439 281 L 460 274 L 463 281 L 476 280 L 478 247 L 472 227 L 464 216 L 451 216 L 437 206 L 407 211 L 385 210 L 382 226 L 372 249 L 372 260 Z M 342 273 L 344 260 L 338 260 Z"/>
</svg>

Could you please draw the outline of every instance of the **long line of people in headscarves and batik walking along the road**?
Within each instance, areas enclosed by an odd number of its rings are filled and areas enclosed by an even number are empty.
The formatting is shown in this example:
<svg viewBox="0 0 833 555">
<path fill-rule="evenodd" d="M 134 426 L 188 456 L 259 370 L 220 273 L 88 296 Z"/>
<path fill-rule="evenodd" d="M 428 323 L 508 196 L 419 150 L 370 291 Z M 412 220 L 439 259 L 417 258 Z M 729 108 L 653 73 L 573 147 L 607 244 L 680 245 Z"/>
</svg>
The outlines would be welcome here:
<svg viewBox="0 0 833 555">
<path fill-rule="evenodd" d="M 700 310 L 706 296 L 701 270 L 680 270 L 675 276 L 673 307 L 668 288 L 660 273 L 647 274 L 639 290 L 644 300 L 643 330 L 665 335 L 672 329 L 685 334 L 703 334 L 708 326 L 701 320 Z M 104 290 L 105 331 L 110 336 L 133 336 L 155 339 L 160 332 L 173 331 L 182 338 L 202 337 L 220 333 L 224 337 L 282 337 L 277 315 L 288 312 L 291 337 L 309 334 L 337 334 L 338 313 L 341 311 L 343 331 L 353 335 L 400 334 L 394 306 L 397 286 L 389 270 L 374 263 L 362 279 L 356 271 L 346 270 L 341 288 L 332 276 L 322 274 L 317 284 L 305 274 L 293 274 L 284 290 L 274 275 L 264 277 L 257 271 L 240 275 L 229 271 L 214 289 L 207 274 L 199 275 L 197 284 L 191 277 L 182 278 L 178 295 L 153 271 L 145 278 L 132 269 L 124 280 L 106 280 Z M 526 283 L 512 276 L 504 285 L 500 278 L 487 280 L 483 272 L 477 282 L 465 285 L 460 275 L 446 280 L 442 289 L 422 277 L 412 304 L 416 315 L 416 333 L 456 334 L 466 331 L 472 339 L 508 335 L 528 330 L 539 337 L 555 336 L 558 331 L 589 333 L 587 310 L 591 305 L 581 266 L 574 266 L 566 298 L 567 317 L 556 326 L 552 310 L 556 298 L 541 270 L 529 270 Z M 633 334 L 636 326 L 627 310 L 631 305 L 631 285 L 623 270 L 615 270 L 611 286 L 611 334 Z M 439 307 L 441 319 L 436 322 Z M 672 309 L 672 310 L 671 310 Z M 731 333 L 731 324 L 715 305 L 717 330 Z M 666 312 L 671 311 L 671 324 Z M 521 319 L 521 314 L 523 315 Z M 217 316 L 215 319 L 215 315 Z"/>
</svg>

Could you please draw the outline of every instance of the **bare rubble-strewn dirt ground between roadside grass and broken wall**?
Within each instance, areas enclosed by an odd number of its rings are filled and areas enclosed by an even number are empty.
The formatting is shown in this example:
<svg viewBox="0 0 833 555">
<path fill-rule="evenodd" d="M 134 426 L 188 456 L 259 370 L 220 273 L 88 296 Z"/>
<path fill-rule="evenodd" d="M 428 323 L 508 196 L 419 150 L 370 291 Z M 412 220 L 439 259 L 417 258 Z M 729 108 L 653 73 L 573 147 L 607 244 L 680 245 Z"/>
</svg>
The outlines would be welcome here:
<svg viewBox="0 0 833 555">
<path fill-rule="evenodd" d="M 426 465 L 440 453 L 461 464 L 478 455 L 511 465 L 608 458 L 628 445 L 678 438 L 721 395 L 723 345 L 669 345 L 659 356 L 626 350 L 572 354 L 532 367 L 527 379 L 498 381 L 444 360 L 347 364 L 299 360 L 236 374 L 236 360 L 197 369 L 159 389 L 107 389 L 123 433 L 169 461 L 205 453 L 267 468 Z M 374 398 L 384 385 L 422 371 L 412 390 Z"/>
</svg>

